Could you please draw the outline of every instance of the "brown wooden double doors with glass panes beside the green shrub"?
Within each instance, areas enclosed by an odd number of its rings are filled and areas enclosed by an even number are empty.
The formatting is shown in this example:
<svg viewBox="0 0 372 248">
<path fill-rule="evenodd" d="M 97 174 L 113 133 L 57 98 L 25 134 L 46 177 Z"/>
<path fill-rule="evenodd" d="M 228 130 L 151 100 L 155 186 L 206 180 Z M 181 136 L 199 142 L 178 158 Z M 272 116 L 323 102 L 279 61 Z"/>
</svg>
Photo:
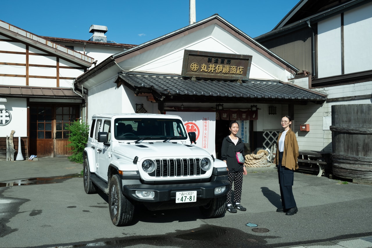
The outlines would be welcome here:
<svg viewBox="0 0 372 248">
<path fill-rule="evenodd" d="M 78 105 L 43 104 L 30 106 L 30 154 L 69 156 L 66 125 L 78 118 Z"/>
</svg>

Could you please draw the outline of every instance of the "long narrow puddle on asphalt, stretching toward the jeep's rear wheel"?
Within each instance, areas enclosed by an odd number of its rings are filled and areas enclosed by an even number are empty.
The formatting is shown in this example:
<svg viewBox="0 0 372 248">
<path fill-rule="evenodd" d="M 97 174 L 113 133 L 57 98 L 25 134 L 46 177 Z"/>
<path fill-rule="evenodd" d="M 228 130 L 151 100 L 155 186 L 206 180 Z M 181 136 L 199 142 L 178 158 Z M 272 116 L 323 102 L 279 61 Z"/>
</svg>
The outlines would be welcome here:
<svg viewBox="0 0 372 248">
<path fill-rule="evenodd" d="M 71 174 L 61 177 L 35 177 L 19 179 L 7 182 L 0 182 L 0 187 L 11 187 L 11 186 L 21 186 L 21 185 L 35 185 L 35 184 L 56 184 L 59 182 L 64 182 L 67 179 L 82 177 L 80 174 Z"/>
</svg>

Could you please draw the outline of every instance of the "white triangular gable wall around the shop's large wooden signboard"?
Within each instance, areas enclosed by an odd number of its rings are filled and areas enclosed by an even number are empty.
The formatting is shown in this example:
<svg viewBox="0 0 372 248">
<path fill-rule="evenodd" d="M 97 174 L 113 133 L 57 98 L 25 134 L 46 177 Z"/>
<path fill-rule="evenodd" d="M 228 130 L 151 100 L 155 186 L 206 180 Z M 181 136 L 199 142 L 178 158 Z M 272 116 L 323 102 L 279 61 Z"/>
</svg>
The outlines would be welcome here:
<svg viewBox="0 0 372 248">
<path fill-rule="evenodd" d="M 252 55 L 250 78 L 286 82 L 289 72 L 220 26 L 211 25 L 119 63 L 124 70 L 181 74 L 184 50 Z M 269 73 L 270 72 L 270 73 Z"/>
</svg>

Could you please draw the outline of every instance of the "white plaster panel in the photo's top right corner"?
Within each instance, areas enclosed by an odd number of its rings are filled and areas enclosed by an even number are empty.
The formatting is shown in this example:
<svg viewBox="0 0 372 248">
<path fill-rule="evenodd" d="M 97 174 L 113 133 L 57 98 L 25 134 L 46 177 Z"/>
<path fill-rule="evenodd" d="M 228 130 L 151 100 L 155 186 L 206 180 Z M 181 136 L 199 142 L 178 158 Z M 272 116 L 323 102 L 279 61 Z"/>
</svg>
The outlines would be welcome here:
<svg viewBox="0 0 372 248">
<path fill-rule="evenodd" d="M 372 3 L 344 13 L 345 73 L 372 70 Z"/>
</svg>

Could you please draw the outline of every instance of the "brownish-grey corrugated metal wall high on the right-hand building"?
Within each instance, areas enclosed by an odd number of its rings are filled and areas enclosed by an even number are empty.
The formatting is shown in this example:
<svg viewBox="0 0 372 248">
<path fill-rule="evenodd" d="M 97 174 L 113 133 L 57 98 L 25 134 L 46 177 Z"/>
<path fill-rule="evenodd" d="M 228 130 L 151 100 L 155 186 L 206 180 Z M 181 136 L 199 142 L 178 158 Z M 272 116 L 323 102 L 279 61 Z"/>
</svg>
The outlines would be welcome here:
<svg viewBox="0 0 372 248">
<path fill-rule="evenodd" d="M 310 28 L 302 28 L 277 36 L 274 39 L 259 41 L 270 51 L 283 58 L 293 66 L 302 70 L 311 71 L 311 35 Z"/>
</svg>

